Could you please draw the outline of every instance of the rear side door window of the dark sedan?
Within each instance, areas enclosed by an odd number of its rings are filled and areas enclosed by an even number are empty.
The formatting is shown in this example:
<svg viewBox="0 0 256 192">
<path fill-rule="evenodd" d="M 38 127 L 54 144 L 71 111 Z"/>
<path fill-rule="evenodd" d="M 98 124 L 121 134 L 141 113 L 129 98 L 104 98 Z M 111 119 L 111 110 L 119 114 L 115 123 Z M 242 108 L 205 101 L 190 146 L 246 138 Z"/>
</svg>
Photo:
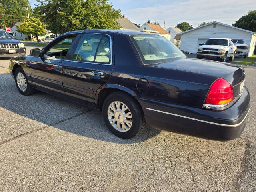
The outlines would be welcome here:
<svg viewBox="0 0 256 192">
<path fill-rule="evenodd" d="M 73 60 L 110 63 L 110 41 L 102 34 L 84 34 L 76 50 Z"/>
</svg>

